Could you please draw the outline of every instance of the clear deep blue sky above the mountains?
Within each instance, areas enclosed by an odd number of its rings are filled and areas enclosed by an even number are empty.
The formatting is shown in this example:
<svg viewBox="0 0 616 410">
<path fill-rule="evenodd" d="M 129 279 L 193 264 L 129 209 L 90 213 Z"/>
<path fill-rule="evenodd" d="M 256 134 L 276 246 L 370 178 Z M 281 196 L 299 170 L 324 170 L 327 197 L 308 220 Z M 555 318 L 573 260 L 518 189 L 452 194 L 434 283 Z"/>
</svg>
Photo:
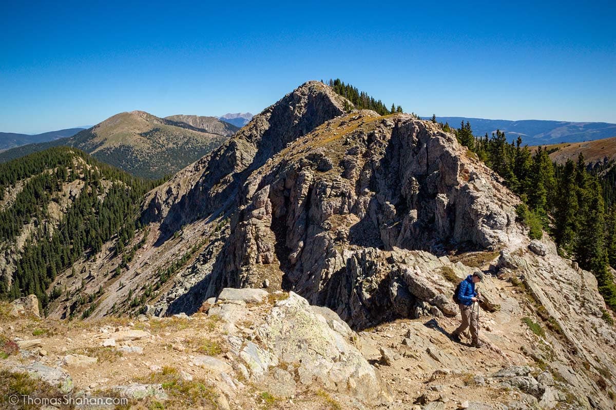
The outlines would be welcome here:
<svg viewBox="0 0 616 410">
<path fill-rule="evenodd" d="M 330 77 L 422 116 L 616 122 L 613 0 L 307 3 L 2 1 L 0 131 L 257 113 Z"/>
</svg>

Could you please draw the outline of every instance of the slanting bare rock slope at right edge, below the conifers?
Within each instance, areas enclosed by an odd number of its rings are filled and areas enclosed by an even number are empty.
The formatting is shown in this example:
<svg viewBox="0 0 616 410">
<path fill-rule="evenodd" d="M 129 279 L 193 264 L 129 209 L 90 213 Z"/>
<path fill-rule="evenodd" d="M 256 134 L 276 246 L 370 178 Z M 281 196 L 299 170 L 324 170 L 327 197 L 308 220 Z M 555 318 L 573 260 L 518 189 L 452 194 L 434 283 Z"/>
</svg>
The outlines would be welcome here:
<svg viewBox="0 0 616 410">
<path fill-rule="evenodd" d="M 514 275 L 521 280 L 533 301 L 532 309 L 557 336 L 551 339 L 548 353 L 530 350 L 527 354 L 553 366 L 559 379 L 569 384 L 567 388 L 585 392 L 580 400 L 588 407 L 592 400 L 594 408 L 610 408 L 613 404 L 602 395 L 600 385 L 602 377 L 616 376 L 611 353 L 616 349 L 616 331 L 604 320 L 605 304 L 596 278 L 591 272 L 574 269 L 572 262 L 557 254 L 556 245 L 547 237 L 529 242 L 527 248 L 531 252 L 501 253 L 497 264 L 498 275 Z M 588 377 L 582 368 L 593 376 Z M 553 401 L 550 394 L 546 401 Z"/>
</svg>

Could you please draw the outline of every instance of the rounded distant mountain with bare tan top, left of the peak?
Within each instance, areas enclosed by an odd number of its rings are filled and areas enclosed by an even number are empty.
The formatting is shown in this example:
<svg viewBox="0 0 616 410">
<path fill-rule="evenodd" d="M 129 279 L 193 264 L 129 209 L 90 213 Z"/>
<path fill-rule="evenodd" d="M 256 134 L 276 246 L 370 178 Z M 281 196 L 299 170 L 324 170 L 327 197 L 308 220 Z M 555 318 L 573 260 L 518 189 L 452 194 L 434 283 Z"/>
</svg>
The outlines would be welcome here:
<svg viewBox="0 0 616 410">
<path fill-rule="evenodd" d="M 144 111 L 121 112 L 70 138 L 4 151 L 0 162 L 54 146 L 74 146 L 133 175 L 157 179 L 218 148 L 238 129 L 216 117 L 160 118 Z"/>
</svg>

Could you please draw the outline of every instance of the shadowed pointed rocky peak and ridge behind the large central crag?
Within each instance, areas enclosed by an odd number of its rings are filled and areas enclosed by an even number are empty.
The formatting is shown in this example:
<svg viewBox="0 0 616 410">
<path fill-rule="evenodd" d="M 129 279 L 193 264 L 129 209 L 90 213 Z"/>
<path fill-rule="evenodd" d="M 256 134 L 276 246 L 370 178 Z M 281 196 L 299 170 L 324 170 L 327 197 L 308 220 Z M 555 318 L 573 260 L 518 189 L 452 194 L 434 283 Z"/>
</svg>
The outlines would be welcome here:
<svg viewBox="0 0 616 410">
<path fill-rule="evenodd" d="M 189 221 L 224 213 L 237 201 L 237 189 L 251 171 L 286 144 L 341 115 L 343 101 L 321 82 L 302 84 L 255 116 L 221 148 L 150 192 L 142 221 L 160 222 L 164 232 L 172 232 Z"/>
</svg>

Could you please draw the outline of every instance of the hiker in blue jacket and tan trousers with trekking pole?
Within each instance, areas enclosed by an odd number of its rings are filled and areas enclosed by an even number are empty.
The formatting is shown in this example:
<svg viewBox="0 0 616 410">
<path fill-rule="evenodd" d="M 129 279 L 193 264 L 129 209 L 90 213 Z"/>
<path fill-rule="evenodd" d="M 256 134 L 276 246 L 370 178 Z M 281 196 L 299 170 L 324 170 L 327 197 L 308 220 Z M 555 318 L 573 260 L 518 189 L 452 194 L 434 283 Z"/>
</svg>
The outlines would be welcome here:
<svg viewBox="0 0 616 410">
<path fill-rule="evenodd" d="M 481 294 L 475 291 L 475 283 L 484 280 L 484 274 L 477 270 L 472 275 L 468 275 L 466 279 L 458 285 L 457 302 L 460 305 L 460 314 L 462 315 L 462 324 L 452 333 L 452 339 L 460 343 L 460 334 L 471 326 L 472 347 L 481 347 L 483 344 L 479 341 L 479 307 L 477 311 L 473 309 L 474 303 L 479 302 Z"/>
</svg>

